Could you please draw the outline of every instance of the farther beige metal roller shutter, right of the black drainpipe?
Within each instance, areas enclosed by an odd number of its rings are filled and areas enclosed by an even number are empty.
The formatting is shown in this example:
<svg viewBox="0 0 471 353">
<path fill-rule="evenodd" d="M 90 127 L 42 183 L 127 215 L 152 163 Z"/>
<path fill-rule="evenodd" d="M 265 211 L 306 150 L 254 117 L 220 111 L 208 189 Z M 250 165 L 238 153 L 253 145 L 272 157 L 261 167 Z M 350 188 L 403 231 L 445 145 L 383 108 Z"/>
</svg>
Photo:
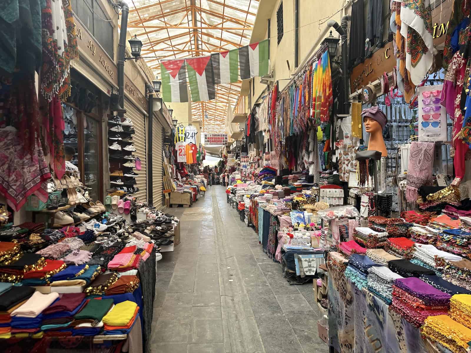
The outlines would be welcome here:
<svg viewBox="0 0 471 353">
<path fill-rule="evenodd" d="M 154 206 L 157 209 L 162 207 L 162 124 L 154 117 L 152 124 L 152 185 Z"/>
</svg>

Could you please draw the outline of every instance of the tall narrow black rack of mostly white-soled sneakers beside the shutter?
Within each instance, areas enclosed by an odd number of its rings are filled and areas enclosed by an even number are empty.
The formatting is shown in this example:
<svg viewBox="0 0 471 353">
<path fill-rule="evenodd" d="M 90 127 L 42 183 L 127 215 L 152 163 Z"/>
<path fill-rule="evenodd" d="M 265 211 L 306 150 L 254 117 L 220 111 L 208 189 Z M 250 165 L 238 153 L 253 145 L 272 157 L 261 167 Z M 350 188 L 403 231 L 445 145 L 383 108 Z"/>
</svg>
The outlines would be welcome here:
<svg viewBox="0 0 471 353">
<path fill-rule="evenodd" d="M 112 116 L 108 120 L 108 155 L 110 166 L 110 188 L 133 194 L 136 187 L 136 151 L 132 136 L 135 131 L 130 118 Z"/>
</svg>

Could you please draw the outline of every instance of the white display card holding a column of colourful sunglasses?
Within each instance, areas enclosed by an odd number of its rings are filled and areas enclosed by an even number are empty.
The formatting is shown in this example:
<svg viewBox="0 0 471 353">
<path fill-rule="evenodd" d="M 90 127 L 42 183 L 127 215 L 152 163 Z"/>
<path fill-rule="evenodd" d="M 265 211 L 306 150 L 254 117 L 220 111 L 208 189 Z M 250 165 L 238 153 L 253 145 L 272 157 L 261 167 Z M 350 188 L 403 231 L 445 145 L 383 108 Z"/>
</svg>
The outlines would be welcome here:
<svg viewBox="0 0 471 353">
<path fill-rule="evenodd" d="M 419 96 L 419 141 L 447 141 L 447 111 L 440 104 L 443 85 L 417 88 Z"/>
</svg>

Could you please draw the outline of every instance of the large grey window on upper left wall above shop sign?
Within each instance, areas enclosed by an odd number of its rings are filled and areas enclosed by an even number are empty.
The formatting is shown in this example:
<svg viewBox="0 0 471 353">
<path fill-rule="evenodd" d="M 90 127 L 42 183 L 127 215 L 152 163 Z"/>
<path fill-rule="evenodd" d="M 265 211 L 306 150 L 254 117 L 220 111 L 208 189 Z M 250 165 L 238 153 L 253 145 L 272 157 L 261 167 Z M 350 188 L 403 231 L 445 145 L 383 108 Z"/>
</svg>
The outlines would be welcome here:
<svg viewBox="0 0 471 353">
<path fill-rule="evenodd" d="M 106 53 L 113 58 L 113 26 L 97 0 L 72 0 L 72 9 Z"/>
</svg>

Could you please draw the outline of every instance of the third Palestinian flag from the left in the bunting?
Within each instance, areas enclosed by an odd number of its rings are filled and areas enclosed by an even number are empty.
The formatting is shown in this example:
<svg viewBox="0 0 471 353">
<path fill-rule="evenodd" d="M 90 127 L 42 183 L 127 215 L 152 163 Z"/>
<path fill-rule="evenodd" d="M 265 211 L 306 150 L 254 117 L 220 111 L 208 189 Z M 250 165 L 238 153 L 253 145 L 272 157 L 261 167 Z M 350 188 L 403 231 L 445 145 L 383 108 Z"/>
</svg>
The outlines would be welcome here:
<svg viewBox="0 0 471 353">
<path fill-rule="evenodd" d="M 239 49 L 211 54 L 214 84 L 237 82 L 239 80 Z"/>
</svg>

